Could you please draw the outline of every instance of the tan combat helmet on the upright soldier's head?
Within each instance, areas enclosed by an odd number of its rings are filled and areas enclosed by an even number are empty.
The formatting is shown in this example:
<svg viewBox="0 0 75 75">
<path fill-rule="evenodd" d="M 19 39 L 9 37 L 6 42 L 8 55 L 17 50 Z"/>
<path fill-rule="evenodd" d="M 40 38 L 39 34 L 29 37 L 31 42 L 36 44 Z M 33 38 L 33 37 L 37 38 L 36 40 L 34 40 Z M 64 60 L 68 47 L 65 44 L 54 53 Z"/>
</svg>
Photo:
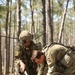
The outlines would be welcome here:
<svg viewBox="0 0 75 75">
<path fill-rule="evenodd" d="M 33 35 L 30 32 L 28 32 L 27 30 L 23 30 L 19 35 L 19 40 L 21 40 L 24 43 L 26 41 L 32 41 Z"/>
</svg>

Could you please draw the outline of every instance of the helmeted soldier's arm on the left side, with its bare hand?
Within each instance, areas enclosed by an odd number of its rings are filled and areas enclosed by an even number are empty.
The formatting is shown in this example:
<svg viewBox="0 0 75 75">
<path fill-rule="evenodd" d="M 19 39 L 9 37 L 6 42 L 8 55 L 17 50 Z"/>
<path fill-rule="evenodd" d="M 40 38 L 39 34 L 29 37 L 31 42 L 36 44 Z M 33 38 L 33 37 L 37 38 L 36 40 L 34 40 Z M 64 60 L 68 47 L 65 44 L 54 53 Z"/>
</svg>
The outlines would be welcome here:
<svg viewBox="0 0 75 75">
<path fill-rule="evenodd" d="M 24 71 L 25 69 L 25 64 L 23 63 L 23 61 L 21 60 L 22 58 L 22 54 L 21 54 L 21 50 L 20 50 L 20 46 L 19 44 L 16 45 L 15 47 L 15 51 L 14 51 L 14 67 L 16 68 L 15 71 Z"/>
</svg>

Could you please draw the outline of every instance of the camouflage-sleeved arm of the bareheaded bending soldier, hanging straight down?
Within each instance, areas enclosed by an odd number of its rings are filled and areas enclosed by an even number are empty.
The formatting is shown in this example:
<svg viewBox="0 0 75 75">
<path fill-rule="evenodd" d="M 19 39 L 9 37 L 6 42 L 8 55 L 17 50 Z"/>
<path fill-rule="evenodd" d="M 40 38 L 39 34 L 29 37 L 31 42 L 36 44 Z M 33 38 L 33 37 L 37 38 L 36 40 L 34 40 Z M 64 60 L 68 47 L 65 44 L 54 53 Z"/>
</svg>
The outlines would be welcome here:
<svg viewBox="0 0 75 75">
<path fill-rule="evenodd" d="M 56 55 L 57 52 L 55 52 L 55 50 L 49 50 L 47 52 L 47 56 L 46 56 L 46 60 L 47 60 L 47 64 L 48 64 L 48 75 L 51 75 L 54 72 L 57 72 L 58 70 L 58 66 L 56 65 Z"/>
</svg>

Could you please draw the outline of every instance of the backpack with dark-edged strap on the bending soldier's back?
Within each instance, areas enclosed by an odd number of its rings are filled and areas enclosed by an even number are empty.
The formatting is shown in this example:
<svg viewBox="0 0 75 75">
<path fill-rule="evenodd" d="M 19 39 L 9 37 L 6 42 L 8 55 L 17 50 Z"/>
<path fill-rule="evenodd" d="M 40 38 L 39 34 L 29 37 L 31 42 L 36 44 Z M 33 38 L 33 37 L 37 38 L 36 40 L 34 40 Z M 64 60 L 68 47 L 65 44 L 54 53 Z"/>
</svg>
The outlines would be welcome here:
<svg viewBox="0 0 75 75">
<path fill-rule="evenodd" d="M 42 49 L 42 52 L 46 52 L 50 47 L 52 47 L 53 45 L 56 45 L 56 44 L 65 46 L 60 43 L 51 43 L 49 45 L 46 45 Z M 65 46 L 65 47 L 68 48 L 68 52 L 63 56 L 63 58 L 60 59 L 59 63 L 61 63 L 66 68 L 69 68 L 75 62 L 75 47 L 74 46 Z"/>
</svg>

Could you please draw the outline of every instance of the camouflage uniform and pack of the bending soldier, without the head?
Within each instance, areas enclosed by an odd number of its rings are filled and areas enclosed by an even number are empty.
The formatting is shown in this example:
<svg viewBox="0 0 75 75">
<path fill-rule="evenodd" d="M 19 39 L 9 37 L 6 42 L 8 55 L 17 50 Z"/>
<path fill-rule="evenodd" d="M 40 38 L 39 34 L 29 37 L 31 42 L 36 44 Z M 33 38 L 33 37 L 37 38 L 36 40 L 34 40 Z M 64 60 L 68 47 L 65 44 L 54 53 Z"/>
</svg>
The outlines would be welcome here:
<svg viewBox="0 0 75 75">
<path fill-rule="evenodd" d="M 47 71 L 39 69 L 38 75 L 74 75 L 75 53 L 73 52 L 73 54 L 71 54 L 70 51 L 72 50 L 69 50 L 65 46 L 59 44 L 55 44 L 50 47 L 47 46 L 46 48 L 44 48 L 42 52 L 45 53 L 48 69 L 46 69 Z M 70 56 L 68 57 L 66 56 L 66 54 L 69 54 Z M 69 64 L 70 66 L 68 66 Z M 43 74 L 41 74 L 40 72 L 43 72 Z M 59 74 L 57 74 L 56 72 L 58 72 Z"/>
</svg>

